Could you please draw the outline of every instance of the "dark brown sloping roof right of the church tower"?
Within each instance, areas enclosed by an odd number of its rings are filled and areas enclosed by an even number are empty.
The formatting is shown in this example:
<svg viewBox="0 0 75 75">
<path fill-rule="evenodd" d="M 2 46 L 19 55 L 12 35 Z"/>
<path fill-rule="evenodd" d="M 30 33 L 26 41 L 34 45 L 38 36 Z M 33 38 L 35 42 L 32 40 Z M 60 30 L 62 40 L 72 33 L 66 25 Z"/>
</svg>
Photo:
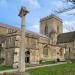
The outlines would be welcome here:
<svg viewBox="0 0 75 75">
<path fill-rule="evenodd" d="M 72 42 L 75 38 L 75 31 L 59 34 L 57 37 L 57 44 Z"/>
</svg>

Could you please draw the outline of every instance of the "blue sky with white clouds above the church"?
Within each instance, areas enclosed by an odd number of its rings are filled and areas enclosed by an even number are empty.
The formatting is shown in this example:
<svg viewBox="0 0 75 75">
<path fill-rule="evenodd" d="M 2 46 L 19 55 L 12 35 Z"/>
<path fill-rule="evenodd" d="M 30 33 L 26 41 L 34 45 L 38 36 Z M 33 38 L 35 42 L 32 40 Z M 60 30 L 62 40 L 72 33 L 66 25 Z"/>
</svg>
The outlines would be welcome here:
<svg viewBox="0 0 75 75">
<path fill-rule="evenodd" d="M 63 20 L 64 32 L 75 30 L 75 17 L 69 15 L 75 9 L 61 14 L 56 14 L 54 10 L 67 8 L 72 3 L 64 0 L 0 0 L 0 22 L 21 26 L 21 18 L 18 16 L 21 6 L 25 6 L 29 13 L 26 16 L 26 29 L 39 32 L 40 19 L 50 14 L 55 14 Z"/>
</svg>

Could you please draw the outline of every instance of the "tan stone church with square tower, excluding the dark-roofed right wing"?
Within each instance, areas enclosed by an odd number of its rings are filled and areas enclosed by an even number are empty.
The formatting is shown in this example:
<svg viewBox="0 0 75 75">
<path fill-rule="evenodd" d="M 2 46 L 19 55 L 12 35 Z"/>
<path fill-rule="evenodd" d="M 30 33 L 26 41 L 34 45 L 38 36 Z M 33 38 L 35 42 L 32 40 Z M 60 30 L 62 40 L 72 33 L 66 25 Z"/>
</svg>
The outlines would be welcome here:
<svg viewBox="0 0 75 75">
<path fill-rule="evenodd" d="M 59 17 L 49 15 L 40 19 L 40 33 L 26 30 L 25 62 L 39 64 L 40 60 L 65 60 L 65 48 L 57 44 L 57 37 L 62 33 L 63 22 Z M 6 65 L 18 66 L 19 50 L 20 29 L 0 23 L 0 59 Z"/>
</svg>

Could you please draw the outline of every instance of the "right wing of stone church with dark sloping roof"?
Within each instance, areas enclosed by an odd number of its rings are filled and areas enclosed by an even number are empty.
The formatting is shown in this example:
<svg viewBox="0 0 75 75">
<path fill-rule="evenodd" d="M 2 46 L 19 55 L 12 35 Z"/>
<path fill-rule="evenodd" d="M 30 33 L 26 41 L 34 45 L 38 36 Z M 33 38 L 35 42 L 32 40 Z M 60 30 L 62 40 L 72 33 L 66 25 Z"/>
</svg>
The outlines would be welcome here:
<svg viewBox="0 0 75 75">
<path fill-rule="evenodd" d="M 75 61 L 75 31 L 58 35 L 57 44 L 65 48 L 65 59 Z"/>
</svg>

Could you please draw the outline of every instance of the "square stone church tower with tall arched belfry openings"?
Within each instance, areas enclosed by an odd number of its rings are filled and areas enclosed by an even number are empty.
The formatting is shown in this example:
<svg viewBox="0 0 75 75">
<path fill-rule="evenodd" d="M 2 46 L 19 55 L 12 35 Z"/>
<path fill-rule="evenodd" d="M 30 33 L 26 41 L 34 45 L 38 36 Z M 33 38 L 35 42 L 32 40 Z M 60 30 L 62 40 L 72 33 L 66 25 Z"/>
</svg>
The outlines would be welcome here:
<svg viewBox="0 0 75 75">
<path fill-rule="evenodd" d="M 40 33 L 50 38 L 50 44 L 56 44 L 57 36 L 63 33 L 62 20 L 53 14 L 40 19 Z"/>
</svg>

